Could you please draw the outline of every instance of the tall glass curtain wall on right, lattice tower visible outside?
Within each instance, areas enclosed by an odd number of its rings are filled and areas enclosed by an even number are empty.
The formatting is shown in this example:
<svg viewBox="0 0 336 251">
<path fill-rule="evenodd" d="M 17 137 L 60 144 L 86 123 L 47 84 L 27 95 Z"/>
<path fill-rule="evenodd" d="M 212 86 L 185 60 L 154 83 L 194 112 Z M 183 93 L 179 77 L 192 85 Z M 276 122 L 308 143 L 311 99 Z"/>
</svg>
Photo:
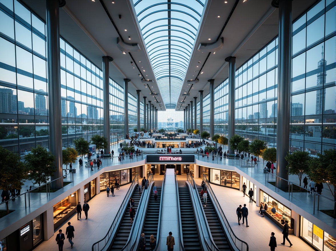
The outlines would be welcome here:
<svg viewBox="0 0 336 251">
<path fill-rule="evenodd" d="M 293 22 L 291 151 L 316 155 L 336 147 L 334 5 L 332 0 L 319 1 Z M 215 133 L 223 135 L 227 134 L 226 83 L 215 89 Z M 277 88 L 275 38 L 236 71 L 236 134 L 276 147 Z"/>
</svg>

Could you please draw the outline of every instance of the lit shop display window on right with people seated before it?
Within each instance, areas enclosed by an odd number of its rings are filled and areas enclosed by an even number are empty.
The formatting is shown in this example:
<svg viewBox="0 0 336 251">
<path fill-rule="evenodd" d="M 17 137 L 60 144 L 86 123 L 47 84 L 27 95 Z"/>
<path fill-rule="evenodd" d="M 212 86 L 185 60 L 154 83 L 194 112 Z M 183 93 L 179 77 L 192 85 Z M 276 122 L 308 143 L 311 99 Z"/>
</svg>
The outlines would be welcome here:
<svg viewBox="0 0 336 251">
<path fill-rule="evenodd" d="M 274 221 L 280 228 L 283 229 L 283 225 L 285 224 L 285 220 L 288 220 L 288 225 L 290 227 L 289 234 L 294 234 L 293 226 L 294 226 L 294 219 L 292 218 L 292 210 L 277 201 L 276 199 L 272 198 L 264 191 L 260 190 L 260 203 L 263 202 L 267 204 L 267 213 L 268 216 L 272 221 Z"/>
</svg>

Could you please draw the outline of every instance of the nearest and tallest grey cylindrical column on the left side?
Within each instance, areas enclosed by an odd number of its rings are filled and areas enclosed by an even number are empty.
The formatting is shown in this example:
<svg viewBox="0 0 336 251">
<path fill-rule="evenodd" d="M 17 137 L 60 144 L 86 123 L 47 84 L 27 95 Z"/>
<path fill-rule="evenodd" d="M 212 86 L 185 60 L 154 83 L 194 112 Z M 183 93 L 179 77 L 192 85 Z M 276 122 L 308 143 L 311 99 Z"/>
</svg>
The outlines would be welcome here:
<svg viewBox="0 0 336 251">
<path fill-rule="evenodd" d="M 49 151 L 55 155 L 56 171 L 50 180 L 63 175 L 62 166 L 62 120 L 61 120 L 61 84 L 59 49 L 59 1 L 46 1 L 47 17 L 47 63 L 48 63 L 48 99 L 49 99 Z M 63 187 L 63 179 L 51 183 L 52 189 Z"/>
</svg>

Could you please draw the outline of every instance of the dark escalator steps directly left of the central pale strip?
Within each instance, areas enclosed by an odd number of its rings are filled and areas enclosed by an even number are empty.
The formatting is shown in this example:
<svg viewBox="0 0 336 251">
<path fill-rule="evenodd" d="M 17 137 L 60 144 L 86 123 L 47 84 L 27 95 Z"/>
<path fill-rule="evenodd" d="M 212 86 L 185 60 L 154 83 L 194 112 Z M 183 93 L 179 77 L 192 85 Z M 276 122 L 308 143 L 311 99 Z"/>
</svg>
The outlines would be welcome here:
<svg viewBox="0 0 336 251">
<path fill-rule="evenodd" d="M 146 250 L 150 250 L 150 236 L 154 235 L 154 238 L 157 239 L 158 236 L 158 224 L 159 224 L 159 213 L 160 213 L 160 199 L 161 199 L 161 191 L 162 187 L 157 187 L 158 190 L 158 198 L 157 202 L 154 201 L 153 191 L 151 193 L 151 197 L 148 202 L 148 208 L 146 211 L 146 216 L 144 220 L 144 226 L 142 229 L 142 233 L 145 234 L 146 237 Z M 158 240 L 157 240 L 158 242 Z"/>
</svg>

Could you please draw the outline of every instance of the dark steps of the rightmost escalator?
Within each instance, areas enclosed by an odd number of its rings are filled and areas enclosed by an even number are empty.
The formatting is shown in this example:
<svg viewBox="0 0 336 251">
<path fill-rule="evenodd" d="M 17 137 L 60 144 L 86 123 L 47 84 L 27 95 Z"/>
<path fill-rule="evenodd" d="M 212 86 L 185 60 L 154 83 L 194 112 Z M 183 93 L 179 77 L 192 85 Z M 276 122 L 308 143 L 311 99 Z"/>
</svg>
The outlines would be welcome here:
<svg viewBox="0 0 336 251">
<path fill-rule="evenodd" d="M 198 190 L 199 195 L 201 196 L 201 187 L 197 186 L 197 190 Z M 203 203 L 203 198 L 201 198 L 201 201 Z M 212 239 L 214 243 L 216 244 L 217 248 L 219 250 L 232 250 L 225 236 L 225 233 L 222 229 L 220 220 L 215 212 L 215 209 L 213 207 L 213 204 L 209 196 L 207 198 L 207 205 L 203 206 L 203 210 L 207 218 L 207 222 L 208 222 L 208 225 L 211 231 Z"/>
</svg>

